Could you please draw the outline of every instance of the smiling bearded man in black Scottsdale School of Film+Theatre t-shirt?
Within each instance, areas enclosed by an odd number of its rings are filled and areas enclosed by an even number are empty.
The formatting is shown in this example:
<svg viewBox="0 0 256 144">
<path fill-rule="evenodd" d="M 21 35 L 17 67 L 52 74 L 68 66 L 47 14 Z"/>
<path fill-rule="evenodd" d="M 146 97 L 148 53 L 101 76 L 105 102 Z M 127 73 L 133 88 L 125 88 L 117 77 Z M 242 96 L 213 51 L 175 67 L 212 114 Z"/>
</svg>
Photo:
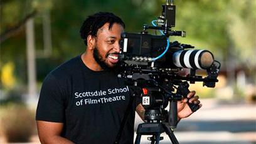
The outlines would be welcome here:
<svg viewBox="0 0 256 144">
<path fill-rule="evenodd" d="M 84 21 L 80 34 L 85 52 L 61 64 L 46 76 L 36 111 L 41 143 L 113 143 L 131 98 L 131 88 L 117 78 L 123 21 L 112 13 L 96 13 Z M 199 104 L 195 92 L 191 103 Z M 178 103 L 178 119 L 191 115 L 186 99 Z M 200 104 L 201 106 L 201 104 Z M 121 143 L 133 143 L 134 103 Z"/>
</svg>

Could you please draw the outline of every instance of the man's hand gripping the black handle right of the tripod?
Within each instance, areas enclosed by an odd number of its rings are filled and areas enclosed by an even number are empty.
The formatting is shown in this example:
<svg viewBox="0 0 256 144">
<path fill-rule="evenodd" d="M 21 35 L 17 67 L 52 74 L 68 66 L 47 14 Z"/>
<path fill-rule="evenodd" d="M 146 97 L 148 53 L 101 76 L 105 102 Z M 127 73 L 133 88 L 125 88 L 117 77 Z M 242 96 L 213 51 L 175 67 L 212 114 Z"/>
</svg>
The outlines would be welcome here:
<svg viewBox="0 0 256 144">
<path fill-rule="evenodd" d="M 195 96 L 195 94 L 195 91 L 191 91 L 190 93 L 188 93 L 187 97 L 190 98 L 189 103 L 199 105 L 199 108 L 201 108 L 202 105 L 198 100 L 199 97 Z M 181 120 L 181 118 L 186 118 L 193 113 L 193 111 L 191 111 L 191 109 L 188 106 L 188 98 L 183 98 L 181 101 L 178 101 L 177 103 L 178 120 Z"/>
</svg>

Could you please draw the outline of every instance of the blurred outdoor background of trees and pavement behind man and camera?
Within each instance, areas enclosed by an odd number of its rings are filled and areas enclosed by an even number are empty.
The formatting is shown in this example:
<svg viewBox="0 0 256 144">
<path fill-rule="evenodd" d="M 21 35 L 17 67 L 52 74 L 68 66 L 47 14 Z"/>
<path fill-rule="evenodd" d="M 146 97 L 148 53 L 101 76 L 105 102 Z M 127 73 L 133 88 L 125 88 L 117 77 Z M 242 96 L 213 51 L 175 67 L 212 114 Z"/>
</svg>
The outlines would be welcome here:
<svg viewBox="0 0 256 144">
<path fill-rule="evenodd" d="M 85 50 L 80 26 L 109 11 L 139 33 L 165 0 L 0 0 L 0 143 L 39 143 L 35 110 L 41 83 L 56 66 Z M 181 143 L 256 143 L 256 1 L 176 0 L 170 41 L 210 50 L 221 63 L 216 88 L 196 83 L 203 108 L 179 123 Z M 136 118 L 136 125 L 141 123 Z M 170 143 L 164 138 L 163 143 Z"/>
</svg>

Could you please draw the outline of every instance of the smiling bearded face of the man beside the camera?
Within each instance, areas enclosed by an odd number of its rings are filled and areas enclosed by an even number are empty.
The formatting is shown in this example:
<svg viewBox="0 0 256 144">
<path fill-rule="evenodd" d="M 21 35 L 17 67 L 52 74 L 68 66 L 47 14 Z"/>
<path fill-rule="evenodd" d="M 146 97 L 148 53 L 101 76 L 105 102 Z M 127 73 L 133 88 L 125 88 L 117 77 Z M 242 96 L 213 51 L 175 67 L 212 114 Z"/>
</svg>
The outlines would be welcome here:
<svg viewBox="0 0 256 144">
<path fill-rule="evenodd" d="M 117 23 L 114 23 L 111 29 L 109 23 L 106 23 L 98 30 L 93 58 L 102 69 L 114 68 L 119 61 L 119 42 L 123 31 L 124 28 Z"/>
</svg>

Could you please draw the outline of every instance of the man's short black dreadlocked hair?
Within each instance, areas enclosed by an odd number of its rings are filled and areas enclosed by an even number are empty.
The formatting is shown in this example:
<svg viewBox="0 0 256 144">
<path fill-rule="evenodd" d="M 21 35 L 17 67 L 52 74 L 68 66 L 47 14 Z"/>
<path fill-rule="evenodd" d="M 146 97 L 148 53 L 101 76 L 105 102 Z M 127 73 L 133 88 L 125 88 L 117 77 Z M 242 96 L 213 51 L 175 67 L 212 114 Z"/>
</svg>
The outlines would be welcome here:
<svg viewBox="0 0 256 144">
<path fill-rule="evenodd" d="M 88 16 L 88 18 L 83 21 L 83 25 L 80 29 L 80 36 L 85 42 L 85 45 L 87 45 L 87 37 L 91 35 L 95 38 L 99 28 L 104 26 L 105 23 L 109 23 L 109 29 L 112 28 L 114 23 L 120 24 L 125 28 L 125 24 L 122 19 L 120 19 L 118 16 L 115 16 L 113 13 L 95 13 L 91 16 Z"/>
</svg>

